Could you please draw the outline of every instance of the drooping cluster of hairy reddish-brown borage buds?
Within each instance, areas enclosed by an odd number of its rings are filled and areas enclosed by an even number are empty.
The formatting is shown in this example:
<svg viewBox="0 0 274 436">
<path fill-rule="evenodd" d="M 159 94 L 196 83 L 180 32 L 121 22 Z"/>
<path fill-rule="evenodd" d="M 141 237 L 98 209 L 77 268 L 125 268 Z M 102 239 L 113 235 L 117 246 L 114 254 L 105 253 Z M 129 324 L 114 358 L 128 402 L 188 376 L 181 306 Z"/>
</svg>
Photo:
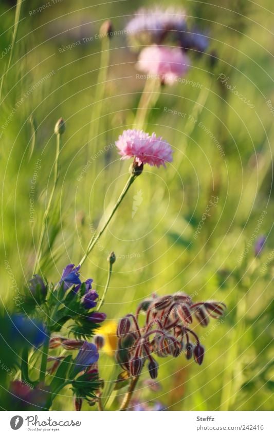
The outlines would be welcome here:
<svg viewBox="0 0 274 436">
<path fill-rule="evenodd" d="M 193 303 L 182 292 L 144 300 L 136 315 L 129 314 L 119 322 L 117 362 L 133 377 L 139 376 L 145 362 L 148 362 L 153 379 L 158 375 L 158 363 L 152 353 L 158 357 L 178 357 L 184 353 L 188 360 L 193 357 L 198 365 L 202 365 L 205 349 L 190 326 L 196 318 L 200 325 L 206 327 L 209 317 L 222 316 L 224 309 L 222 302 Z M 142 328 L 138 323 L 140 312 L 146 314 Z"/>
</svg>

